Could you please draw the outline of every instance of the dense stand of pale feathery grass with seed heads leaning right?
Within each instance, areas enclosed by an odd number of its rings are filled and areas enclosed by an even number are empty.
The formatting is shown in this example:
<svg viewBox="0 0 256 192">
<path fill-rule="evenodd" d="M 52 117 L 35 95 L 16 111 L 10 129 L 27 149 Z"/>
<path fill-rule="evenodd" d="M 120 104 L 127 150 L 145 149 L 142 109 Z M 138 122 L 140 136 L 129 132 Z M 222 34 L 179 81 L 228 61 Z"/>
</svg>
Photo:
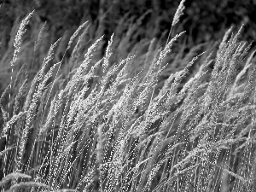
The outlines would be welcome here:
<svg viewBox="0 0 256 192">
<path fill-rule="evenodd" d="M 113 34 L 99 58 L 103 37 L 84 53 L 84 23 L 61 60 L 54 62 L 61 39 L 50 46 L 30 83 L 27 65 L 18 73 L 15 65 L 31 18 L 15 36 L 0 100 L 3 191 L 255 190 L 255 51 L 240 41 L 242 27 L 230 28 L 216 51 L 195 55 L 207 48 L 198 45 L 172 55 L 184 32 L 171 30 L 164 47 L 141 41 L 141 55 L 119 59 L 127 36 L 116 46 Z"/>
</svg>

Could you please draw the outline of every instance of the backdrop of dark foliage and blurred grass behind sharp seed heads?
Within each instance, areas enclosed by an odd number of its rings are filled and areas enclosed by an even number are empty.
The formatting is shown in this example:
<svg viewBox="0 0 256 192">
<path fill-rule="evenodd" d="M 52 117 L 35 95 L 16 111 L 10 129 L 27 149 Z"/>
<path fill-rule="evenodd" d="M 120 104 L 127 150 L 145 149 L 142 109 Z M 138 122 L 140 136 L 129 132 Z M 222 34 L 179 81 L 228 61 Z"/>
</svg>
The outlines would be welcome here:
<svg viewBox="0 0 256 192">
<path fill-rule="evenodd" d="M 55 52 L 55 61 L 61 60 L 69 38 L 86 20 L 90 21 L 90 28 L 84 50 L 104 34 L 98 51 L 101 57 L 114 32 L 113 51 L 118 51 L 113 54 L 113 62 L 127 55 L 142 55 L 153 38 L 159 47 L 164 45 L 180 0 L 2 0 L 0 3 L 0 90 L 3 90 L 9 82 L 9 61 L 14 51 L 15 33 L 20 21 L 32 10 L 35 13 L 26 26 L 20 59 L 15 67 L 18 70 L 26 62 L 26 65 L 34 69 L 31 71 L 34 74 L 50 44 L 62 37 Z M 172 30 L 172 37 L 178 32 L 186 33 L 173 48 L 173 53 L 175 49 L 180 50 L 181 45 L 184 53 L 198 44 L 211 47 L 214 42 L 221 40 L 230 26 L 238 29 L 244 24 L 242 39 L 248 42 L 256 39 L 255 0 L 187 0 L 185 7 L 179 24 Z M 34 55 L 33 46 L 45 22 L 44 40 L 38 55 Z M 205 48 L 203 46 L 197 52 Z M 72 50 L 67 51 L 66 60 L 71 53 Z"/>
</svg>

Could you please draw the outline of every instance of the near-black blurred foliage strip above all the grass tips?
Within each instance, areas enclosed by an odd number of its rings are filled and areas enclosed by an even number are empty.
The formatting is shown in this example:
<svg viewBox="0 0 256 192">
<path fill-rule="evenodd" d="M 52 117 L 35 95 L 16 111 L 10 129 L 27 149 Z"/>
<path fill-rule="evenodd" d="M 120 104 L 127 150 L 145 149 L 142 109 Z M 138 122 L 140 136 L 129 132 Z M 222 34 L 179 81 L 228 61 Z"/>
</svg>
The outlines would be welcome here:
<svg viewBox="0 0 256 192">
<path fill-rule="evenodd" d="M 170 29 L 173 15 L 180 0 L 3 0 L 0 27 L 3 43 L 9 40 L 11 27 L 17 18 L 24 18 L 33 9 L 38 22 L 47 21 L 51 36 L 60 38 L 65 31 L 74 31 L 79 24 L 90 20 L 97 28 L 103 20 L 104 34 L 109 37 L 122 17 L 134 19 L 151 12 L 142 20 L 142 37 L 160 38 L 161 32 Z M 256 38 L 255 0 L 187 0 L 180 27 L 191 34 L 194 43 L 219 38 L 219 32 L 231 25 L 245 24 L 247 37 Z M 105 13 L 104 18 L 102 14 Z M 147 26 L 154 26 L 154 32 Z"/>
</svg>

